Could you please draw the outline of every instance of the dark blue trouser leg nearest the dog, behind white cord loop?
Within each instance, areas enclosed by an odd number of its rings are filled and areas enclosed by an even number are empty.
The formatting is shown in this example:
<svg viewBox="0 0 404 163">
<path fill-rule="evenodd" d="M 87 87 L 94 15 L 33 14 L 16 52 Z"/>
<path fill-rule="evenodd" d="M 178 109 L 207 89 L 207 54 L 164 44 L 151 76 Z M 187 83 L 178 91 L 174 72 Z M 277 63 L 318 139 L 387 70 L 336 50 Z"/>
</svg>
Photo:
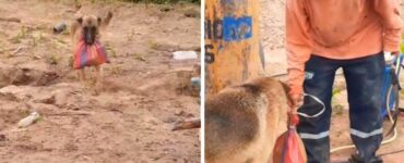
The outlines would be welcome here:
<svg viewBox="0 0 404 163">
<path fill-rule="evenodd" d="M 300 123 L 297 126 L 297 131 L 305 143 L 308 163 L 330 162 L 331 97 L 335 72 L 338 67 L 337 61 L 316 55 L 306 63 L 305 92 L 316 96 L 325 104 L 323 114 L 314 118 L 300 116 Z M 320 103 L 305 97 L 299 112 L 313 115 L 321 109 Z"/>
</svg>

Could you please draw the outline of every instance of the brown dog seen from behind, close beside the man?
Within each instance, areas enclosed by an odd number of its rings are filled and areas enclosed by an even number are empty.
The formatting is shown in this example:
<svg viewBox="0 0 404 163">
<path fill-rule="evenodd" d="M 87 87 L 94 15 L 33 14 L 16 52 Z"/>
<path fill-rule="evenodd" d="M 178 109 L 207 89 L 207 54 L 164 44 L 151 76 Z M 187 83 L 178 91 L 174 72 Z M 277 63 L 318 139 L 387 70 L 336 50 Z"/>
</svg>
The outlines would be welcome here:
<svg viewBox="0 0 404 163">
<path fill-rule="evenodd" d="M 269 163 L 286 130 L 287 88 L 264 77 L 228 87 L 205 102 L 206 163 Z"/>
</svg>

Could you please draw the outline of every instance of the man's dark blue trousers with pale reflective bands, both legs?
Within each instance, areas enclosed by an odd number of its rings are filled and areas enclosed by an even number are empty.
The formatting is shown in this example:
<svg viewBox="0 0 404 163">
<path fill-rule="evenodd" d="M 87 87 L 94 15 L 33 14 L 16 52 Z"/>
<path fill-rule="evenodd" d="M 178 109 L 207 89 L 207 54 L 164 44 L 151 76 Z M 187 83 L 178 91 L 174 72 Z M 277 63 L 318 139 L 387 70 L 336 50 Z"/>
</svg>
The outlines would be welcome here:
<svg viewBox="0 0 404 163">
<path fill-rule="evenodd" d="M 350 138 L 365 162 L 376 156 L 382 140 L 381 91 L 384 65 L 382 53 L 353 60 L 312 55 L 306 63 L 305 92 L 318 97 L 325 104 L 322 115 L 316 118 L 300 116 L 297 126 L 309 163 L 330 162 L 331 98 L 335 72 L 340 67 L 343 68 L 348 91 Z M 321 109 L 318 102 L 305 98 L 299 112 L 313 115 Z"/>
</svg>

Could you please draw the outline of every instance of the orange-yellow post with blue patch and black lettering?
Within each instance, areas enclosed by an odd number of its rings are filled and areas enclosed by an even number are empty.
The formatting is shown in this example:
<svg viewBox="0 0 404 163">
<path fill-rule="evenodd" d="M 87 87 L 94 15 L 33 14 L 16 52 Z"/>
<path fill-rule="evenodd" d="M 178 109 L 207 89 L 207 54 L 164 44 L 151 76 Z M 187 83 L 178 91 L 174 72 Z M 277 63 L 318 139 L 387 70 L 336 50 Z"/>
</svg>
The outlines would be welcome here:
<svg viewBox="0 0 404 163">
<path fill-rule="evenodd" d="M 259 1 L 206 0 L 206 93 L 258 77 Z"/>
</svg>

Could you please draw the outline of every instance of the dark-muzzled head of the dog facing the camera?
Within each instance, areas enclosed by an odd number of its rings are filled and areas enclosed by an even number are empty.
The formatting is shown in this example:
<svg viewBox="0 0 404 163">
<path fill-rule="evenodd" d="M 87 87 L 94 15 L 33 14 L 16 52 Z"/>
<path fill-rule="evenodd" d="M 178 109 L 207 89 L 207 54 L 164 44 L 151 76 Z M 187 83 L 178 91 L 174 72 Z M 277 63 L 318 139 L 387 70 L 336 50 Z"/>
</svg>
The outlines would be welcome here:
<svg viewBox="0 0 404 163">
<path fill-rule="evenodd" d="M 76 20 L 82 27 L 82 35 L 86 45 L 93 45 L 99 34 L 99 26 L 102 18 L 98 16 L 90 15 L 82 16 Z"/>
</svg>

